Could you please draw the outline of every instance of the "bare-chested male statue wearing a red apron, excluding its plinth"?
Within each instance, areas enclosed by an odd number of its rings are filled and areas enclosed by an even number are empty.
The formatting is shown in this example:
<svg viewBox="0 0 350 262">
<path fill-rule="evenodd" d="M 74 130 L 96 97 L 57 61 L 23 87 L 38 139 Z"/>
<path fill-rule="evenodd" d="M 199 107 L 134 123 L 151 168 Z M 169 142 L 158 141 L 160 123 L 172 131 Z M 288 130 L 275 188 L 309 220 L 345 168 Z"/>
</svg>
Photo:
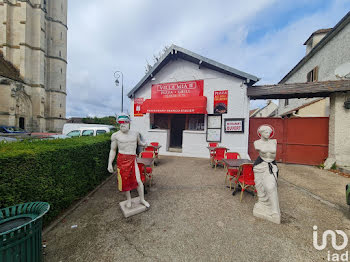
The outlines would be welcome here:
<svg viewBox="0 0 350 262">
<path fill-rule="evenodd" d="M 108 159 L 108 171 L 114 173 L 113 161 L 118 148 L 117 173 L 118 189 L 126 194 L 126 208 L 131 208 L 130 190 L 136 189 L 139 193 L 140 203 L 146 207 L 150 204 L 145 201 L 144 188 L 141 181 L 140 170 L 136 163 L 137 145 L 147 146 L 140 139 L 140 134 L 130 130 L 130 118 L 126 114 L 118 116 L 120 130 L 111 137 L 111 150 Z"/>
</svg>

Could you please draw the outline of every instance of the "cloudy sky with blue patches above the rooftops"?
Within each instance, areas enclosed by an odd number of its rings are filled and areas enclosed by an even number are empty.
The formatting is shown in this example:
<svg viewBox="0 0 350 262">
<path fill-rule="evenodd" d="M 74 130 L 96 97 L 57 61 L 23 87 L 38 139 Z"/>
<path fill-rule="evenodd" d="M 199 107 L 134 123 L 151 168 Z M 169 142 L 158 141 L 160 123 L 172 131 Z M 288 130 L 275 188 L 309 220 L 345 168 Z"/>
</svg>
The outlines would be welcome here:
<svg viewBox="0 0 350 262">
<path fill-rule="evenodd" d="M 277 83 L 305 55 L 310 34 L 350 10 L 349 0 L 83 2 L 68 0 L 67 117 L 119 113 L 114 72 L 123 72 L 126 94 L 171 44 L 256 75 L 259 84 Z"/>
</svg>

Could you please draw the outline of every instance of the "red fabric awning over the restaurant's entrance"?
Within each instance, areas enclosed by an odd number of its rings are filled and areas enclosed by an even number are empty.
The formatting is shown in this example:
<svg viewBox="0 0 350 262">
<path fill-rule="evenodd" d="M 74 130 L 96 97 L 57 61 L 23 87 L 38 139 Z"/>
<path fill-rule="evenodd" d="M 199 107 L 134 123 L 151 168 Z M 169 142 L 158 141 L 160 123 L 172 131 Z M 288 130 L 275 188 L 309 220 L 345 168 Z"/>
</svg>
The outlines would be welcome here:
<svg viewBox="0 0 350 262">
<path fill-rule="evenodd" d="M 175 97 L 147 99 L 141 112 L 158 114 L 207 114 L 207 97 Z"/>
</svg>

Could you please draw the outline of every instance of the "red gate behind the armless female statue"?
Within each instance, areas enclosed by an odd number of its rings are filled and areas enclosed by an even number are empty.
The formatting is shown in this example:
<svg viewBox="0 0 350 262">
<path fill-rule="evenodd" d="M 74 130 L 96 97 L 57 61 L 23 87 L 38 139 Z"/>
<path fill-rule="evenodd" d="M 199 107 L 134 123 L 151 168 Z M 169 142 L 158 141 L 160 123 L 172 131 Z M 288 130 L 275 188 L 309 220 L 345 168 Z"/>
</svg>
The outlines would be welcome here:
<svg viewBox="0 0 350 262">
<path fill-rule="evenodd" d="M 259 139 L 257 129 L 268 124 L 275 129 L 278 162 L 319 165 L 328 156 L 328 121 L 328 117 L 251 118 L 249 156 L 253 160 L 258 157 L 253 145 Z"/>
</svg>

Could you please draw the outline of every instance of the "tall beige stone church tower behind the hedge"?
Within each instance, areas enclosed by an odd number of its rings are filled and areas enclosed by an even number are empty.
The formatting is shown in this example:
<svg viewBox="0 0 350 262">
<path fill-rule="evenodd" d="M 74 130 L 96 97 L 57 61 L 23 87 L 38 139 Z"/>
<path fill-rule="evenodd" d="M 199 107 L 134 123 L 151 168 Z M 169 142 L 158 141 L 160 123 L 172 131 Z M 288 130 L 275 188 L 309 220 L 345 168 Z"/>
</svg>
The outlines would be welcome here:
<svg viewBox="0 0 350 262">
<path fill-rule="evenodd" d="M 0 125 L 62 130 L 67 29 L 67 0 L 0 0 Z"/>
</svg>

